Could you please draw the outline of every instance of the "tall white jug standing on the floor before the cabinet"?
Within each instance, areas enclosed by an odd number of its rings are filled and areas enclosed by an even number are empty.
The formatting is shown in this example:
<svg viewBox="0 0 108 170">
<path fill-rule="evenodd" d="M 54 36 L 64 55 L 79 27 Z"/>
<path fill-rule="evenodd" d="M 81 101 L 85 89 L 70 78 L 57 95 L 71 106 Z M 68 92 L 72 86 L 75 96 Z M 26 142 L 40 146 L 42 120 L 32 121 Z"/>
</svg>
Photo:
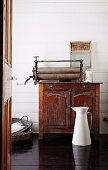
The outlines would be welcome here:
<svg viewBox="0 0 108 170">
<path fill-rule="evenodd" d="M 88 107 L 72 107 L 76 112 L 72 144 L 86 146 L 91 144 L 87 119 Z"/>
</svg>

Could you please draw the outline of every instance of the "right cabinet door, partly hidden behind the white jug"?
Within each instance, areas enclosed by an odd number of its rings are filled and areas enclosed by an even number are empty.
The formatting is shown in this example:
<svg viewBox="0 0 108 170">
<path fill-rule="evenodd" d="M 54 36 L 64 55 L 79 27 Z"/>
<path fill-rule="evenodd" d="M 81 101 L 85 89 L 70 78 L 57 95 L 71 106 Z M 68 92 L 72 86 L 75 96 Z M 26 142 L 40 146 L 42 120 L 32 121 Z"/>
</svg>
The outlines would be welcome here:
<svg viewBox="0 0 108 170">
<path fill-rule="evenodd" d="M 92 127 L 91 131 L 95 131 L 95 123 L 96 123 L 96 118 L 95 118 L 95 91 L 88 89 L 87 91 L 73 91 L 71 92 L 71 106 L 73 107 L 78 107 L 78 106 L 85 106 L 89 107 L 88 112 L 88 121 L 89 125 L 91 124 L 91 116 L 92 116 Z M 71 127 L 74 128 L 74 122 L 75 122 L 75 112 L 71 109 Z"/>
</svg>

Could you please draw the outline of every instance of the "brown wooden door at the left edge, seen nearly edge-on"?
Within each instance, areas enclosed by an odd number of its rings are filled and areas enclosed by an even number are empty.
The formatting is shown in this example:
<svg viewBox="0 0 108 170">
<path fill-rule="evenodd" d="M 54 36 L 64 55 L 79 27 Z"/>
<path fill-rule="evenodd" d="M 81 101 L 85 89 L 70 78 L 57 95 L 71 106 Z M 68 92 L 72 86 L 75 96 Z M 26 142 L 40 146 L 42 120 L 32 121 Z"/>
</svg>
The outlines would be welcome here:
<svg viewBox="0 0 108 170">
<path fill-rule="evenodd" d="M 1 0 L 1 170 L 10 170 L 11 164 L 11 73 L 12 73 L 12 0 Z"/>
</svg>

